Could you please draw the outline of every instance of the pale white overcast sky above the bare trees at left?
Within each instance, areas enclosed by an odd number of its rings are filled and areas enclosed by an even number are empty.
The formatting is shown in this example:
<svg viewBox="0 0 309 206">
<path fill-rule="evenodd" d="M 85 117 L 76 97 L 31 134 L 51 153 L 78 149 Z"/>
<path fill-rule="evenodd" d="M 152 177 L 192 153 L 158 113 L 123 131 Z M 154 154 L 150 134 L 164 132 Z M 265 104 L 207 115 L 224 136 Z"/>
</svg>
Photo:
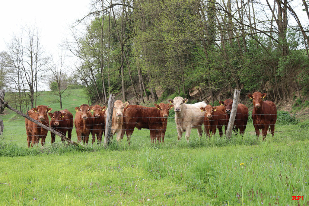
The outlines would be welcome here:
<svg viewBox="0 0 309 206">
<path fill-rule="evenodd" d="M 69 26 L 90 11 L 91 0 L 1 0 L 0 51 L 22 26 L 36 26 L 45 51 L 57 53 L 57 46 L 70 35 Z"/>
</svg>

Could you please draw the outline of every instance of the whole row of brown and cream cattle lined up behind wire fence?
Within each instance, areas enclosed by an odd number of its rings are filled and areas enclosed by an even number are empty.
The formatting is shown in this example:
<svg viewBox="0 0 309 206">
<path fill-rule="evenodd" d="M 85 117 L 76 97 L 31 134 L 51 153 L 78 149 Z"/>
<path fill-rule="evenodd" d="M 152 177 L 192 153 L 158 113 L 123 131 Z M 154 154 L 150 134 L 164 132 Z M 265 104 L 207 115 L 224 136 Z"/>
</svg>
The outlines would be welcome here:
<svg viewBox="0 0 309 206">
<path fill-rule="evenodd" d="M 263 101 L 266 97 L 265 93 L 255 92 L 253 95 L 249 94 L 248 97 L 253 99 L 252 120 L 256 135 L 259 137 L 261 129 L 263 140 L 265 140 L 268 129 L 274 135 L 277 120 L 276 105 L 271 101 Z M 214 135 L 216 129 L 219 130 L 221 137 L 223 126 L 225 126 L 226 131 L 233 100 L 226 99 L 224 102 L 220 101 L 219 103 L 221 105 L 216 107 L 212 107 L 205 102 L 186 104 L 188 99 L 182 97 L 175 97 L 167 101 L 169 104 L 160 103 L 155 104 L 155 107 L 144 107 L 130 105 L 128 102 L 123 103 L 120 100 L 116 100 L 112 113 L 112 135 L 117 133 L 116 140 L 121 141 L 126 134 L 128 144 L 130 144 L 130 137 L 134 128 L 138 128 L 139 130 L 146 128 L 150 130 L 150 139 L 152 142 L 164 142 L 167 117 L 169 110 L 173 107 L 178 140 L 181 139 L 182 134 L 185 132 L 186 140 L 189 141 L 192 128 L 197 128 L 198 135 L 201 137 L 202 124 L 204 124 L 204 131 L 208 137 L 210 137 L 210 132 Z M 83 141 L 83 143 L 86 142 L 87 144 L 90 133 L 92 135 L 92 144 L 95 142 L 95 136 L 97 137 L 97 142 L 101 142 L 102 136 L 105 133 L 105 109 L 105 106 L 89 106 L 87 104 L 75 107 L 74 126 L 78 142 Z M 49 108 L 49 106 L 40 105 L 29 110 L 28 115 L 65 136 L 68 133 L 68 138 L 71 139 L 73 129 L 72 113 L 67 109 L 55 111 L 54 113 L 50 111 L 52 111 L 52 108 Z M 243 104 L 238 104 L 236 113 L 233 129 L 235 133 L 239 129 L 239 133 L 243 134 L 248 121 L 248 107 Z M 51 117 L 50 122 L 48 116 Z M 28 147 L 30 147 L 30 143 L 31 147 L 38 144 L 40 139 L 43 146 L 48 131 L 28 119 L 25 119 L 25 123 Z M 55 134 L 52 132 L 51 139 L 53 143 L 55 141 Z M 63 142 L 64 140 L 61 138 L 61 141 Z"/>
</svg>

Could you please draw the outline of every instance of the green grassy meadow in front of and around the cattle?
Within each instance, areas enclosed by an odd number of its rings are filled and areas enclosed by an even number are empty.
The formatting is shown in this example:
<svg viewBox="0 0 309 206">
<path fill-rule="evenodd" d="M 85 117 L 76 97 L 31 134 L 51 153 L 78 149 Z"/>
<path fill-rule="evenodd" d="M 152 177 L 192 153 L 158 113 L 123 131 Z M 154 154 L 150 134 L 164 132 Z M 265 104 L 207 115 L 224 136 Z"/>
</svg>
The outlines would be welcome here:
<svg viewBox="0 0 309 206">
<path fill-rule="evenodd" d="M 63 108 L 87 102 L 73 91 Z M 45 96 L 46 95 L 46 96 Z M 48 93 L 42 103 L 50 103 Z M 256 139 L 252 122 L 245 135 L 177 141 L 168 119 L 164 144 L 150 143 L 149 130 L 134 130 L 131 145 L 115 138 L 107 149 L 50 144 L 27 148 L 24 118 L 0 116 L 0 205 L 309 205 L 309 128 L 279 122 L 275 136 Z M 72 140 L 77 141 L 73 130 Z M 303 196 L 303 200 L 292 200 Z"/>
</svg>

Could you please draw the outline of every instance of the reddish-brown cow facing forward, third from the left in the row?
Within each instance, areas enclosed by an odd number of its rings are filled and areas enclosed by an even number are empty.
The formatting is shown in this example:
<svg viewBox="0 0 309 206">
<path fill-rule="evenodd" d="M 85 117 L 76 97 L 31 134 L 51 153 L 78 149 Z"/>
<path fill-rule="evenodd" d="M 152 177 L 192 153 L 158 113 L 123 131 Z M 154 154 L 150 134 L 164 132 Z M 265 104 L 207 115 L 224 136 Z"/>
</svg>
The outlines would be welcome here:
<svg viewBox="0 0 309 206">
<path fill-rule="evenodd" d="M 74 119 L 74 125 L 76 129 L 77 142 L 88 144 L 89 134 L 92 129 L 93 116 L 90 112 L 88 104 L 82 104 L 80 107 L 75 107 L 76 114 Z"/>
</svg>

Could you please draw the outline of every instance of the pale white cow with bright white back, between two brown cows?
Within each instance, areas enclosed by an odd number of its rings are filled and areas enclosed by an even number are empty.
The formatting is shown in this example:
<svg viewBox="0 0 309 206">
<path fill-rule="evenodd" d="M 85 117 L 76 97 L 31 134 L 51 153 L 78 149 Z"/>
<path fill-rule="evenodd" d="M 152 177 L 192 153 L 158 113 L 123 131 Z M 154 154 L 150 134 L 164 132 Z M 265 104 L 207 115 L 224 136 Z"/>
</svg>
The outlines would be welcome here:
<svg viewBox="0 0 309 206">
<path fill-rule="evenodd" d="M 182 133 L 186 132 L 186 139 L 189 142 L 192 128 L 197 128 L 198 136 L 201 137 L 203 134 L 204 113 L 201 112 L 200 108 L 206 107 L 207 104 L 205 102 L 186 104 L 188 99 L 182 97 L 175 97 L 173 100 L 169 99 L 167 101 L 174 105 L 178 140 L 181 139 Z"/>
</svg>

